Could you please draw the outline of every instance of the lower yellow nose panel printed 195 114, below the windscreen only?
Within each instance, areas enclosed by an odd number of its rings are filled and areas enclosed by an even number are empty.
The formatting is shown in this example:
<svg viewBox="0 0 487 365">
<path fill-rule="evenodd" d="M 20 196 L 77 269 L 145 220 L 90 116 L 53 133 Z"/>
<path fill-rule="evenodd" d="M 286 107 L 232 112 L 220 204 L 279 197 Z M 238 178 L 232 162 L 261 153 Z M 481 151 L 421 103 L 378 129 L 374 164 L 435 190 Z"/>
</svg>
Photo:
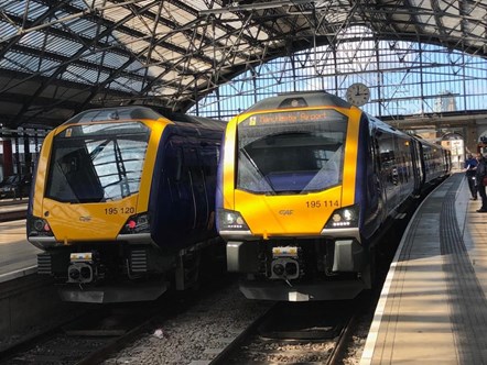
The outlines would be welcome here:
<svg viewBox="0 0 487 365">
<path fill-rule="evenodd" d="M 342 206 L 340 197 L 339 186 L 294 196 L 264 196 L 236 190 L 235 208 L 255 235 L 318 236 L 333 211 Z"/>
</svg>

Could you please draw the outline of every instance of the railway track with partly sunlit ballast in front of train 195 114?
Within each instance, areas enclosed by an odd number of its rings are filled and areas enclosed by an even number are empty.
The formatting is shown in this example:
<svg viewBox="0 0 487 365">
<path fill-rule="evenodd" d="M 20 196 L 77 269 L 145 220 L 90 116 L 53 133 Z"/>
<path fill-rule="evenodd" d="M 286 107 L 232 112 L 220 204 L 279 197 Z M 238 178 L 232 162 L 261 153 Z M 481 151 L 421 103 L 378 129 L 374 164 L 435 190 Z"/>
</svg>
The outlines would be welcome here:
<svg viewBox="0 0 487 365">
<path fill-rule="evenodd" d="M 223 364 L 338 364 L 369 297 L 279 302 L 214 358 Z"/>
</svg>

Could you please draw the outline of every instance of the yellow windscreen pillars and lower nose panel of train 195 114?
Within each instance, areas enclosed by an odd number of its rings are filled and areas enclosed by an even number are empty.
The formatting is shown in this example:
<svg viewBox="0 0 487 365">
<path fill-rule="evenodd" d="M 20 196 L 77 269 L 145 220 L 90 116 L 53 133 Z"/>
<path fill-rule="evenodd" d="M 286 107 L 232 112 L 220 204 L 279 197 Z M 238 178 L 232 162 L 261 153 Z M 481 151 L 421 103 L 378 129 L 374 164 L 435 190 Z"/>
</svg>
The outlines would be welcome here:
<svg viewBox="0 0 487 365">
<path fill-rule="evenodd" d="M 342 185 L 307 195 L 267 196 L 234 190 L 237 124 L 249 114 L 229 122 L 225 145 L 224 208 L 240 212 L 252 234 L 263 237 L 317 236 L 336 209 L 355 203 L 361 111 L 358 108 L 333 109 L 348 117 Z"/>
</svg>

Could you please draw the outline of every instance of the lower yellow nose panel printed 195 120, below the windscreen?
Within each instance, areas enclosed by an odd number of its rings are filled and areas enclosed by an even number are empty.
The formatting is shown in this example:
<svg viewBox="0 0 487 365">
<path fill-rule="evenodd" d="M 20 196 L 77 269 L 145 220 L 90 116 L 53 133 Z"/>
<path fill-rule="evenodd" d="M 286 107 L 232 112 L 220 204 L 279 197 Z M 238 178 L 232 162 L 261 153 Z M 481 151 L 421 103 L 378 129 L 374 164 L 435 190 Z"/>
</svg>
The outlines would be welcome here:
<svg viewBox="0 0 487 365">
<path fill-rule="evenodd" d="M 69 204 L 44 199 L 45 218 L 57 241 L 112 241 L 137 212 L 137 196 L 105 203 Z"/>
</svg>

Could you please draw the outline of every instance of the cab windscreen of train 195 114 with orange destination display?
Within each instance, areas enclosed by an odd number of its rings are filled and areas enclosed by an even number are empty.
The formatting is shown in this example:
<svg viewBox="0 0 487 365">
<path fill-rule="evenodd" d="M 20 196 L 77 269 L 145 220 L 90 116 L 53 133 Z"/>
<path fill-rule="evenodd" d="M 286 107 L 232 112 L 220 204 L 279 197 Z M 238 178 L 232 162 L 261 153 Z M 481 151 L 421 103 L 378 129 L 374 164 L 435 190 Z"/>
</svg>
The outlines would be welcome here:
<svg viewBox="0 0 487 365">
<path fill-rule="evenodd" d="M 306 193 L 340 184 L 347 121 L 323 109 L 249 117 L 238 124 L 237 188 Z"/>
</svg>

